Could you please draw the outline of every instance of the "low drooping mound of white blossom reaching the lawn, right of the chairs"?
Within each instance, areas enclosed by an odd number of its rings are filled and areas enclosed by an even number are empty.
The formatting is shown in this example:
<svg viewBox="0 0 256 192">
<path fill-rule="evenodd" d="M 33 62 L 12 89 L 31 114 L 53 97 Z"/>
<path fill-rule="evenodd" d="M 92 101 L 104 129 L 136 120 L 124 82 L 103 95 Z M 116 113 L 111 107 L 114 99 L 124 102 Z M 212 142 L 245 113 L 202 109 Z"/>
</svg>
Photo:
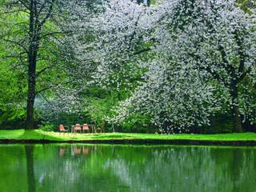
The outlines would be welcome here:
<svg viewBox="0 0 256 192">
<path fill-rule="evenodd" d="M 150 62 L 144 82 L 130 98 L 121 102 L 118 116 L 112 121 L 142 113 L 150 117 L 161 133 L 181 133 L 191 126 L 209 124 L 210 114 L 220 99 L 214 97 L 214 86 L 200 81 L 197 71 L 186 70 L 190 69 L 177 69 L 175 63 L 168 61 Z"/>
</svg>

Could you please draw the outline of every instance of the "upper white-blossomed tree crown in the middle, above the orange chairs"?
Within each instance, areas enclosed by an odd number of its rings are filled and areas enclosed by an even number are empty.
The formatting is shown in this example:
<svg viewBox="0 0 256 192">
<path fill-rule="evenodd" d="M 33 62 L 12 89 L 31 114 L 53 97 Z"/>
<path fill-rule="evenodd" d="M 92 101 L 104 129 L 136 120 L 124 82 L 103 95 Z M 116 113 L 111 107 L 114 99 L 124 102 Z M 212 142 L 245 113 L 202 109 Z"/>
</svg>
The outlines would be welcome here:
<svg viewBox="0 0 256 192">
<path fill-rule="evenodd" d="M 107 87 L 118 92 L 118 98 L 121 90 L 134 90 L 143 73 L 140 61 L 152 44 L 145 39 L 149 25 L 142 24 L 149 23 L 145 5 L 123 0 L 102 2 L 93 11 L 86 5 L 78 10 L 79 19 L 70 25 L 78 29 L 73 49 L 79 61 L 75 73 L 83 77 L 80 90 Z"/>
</svg>

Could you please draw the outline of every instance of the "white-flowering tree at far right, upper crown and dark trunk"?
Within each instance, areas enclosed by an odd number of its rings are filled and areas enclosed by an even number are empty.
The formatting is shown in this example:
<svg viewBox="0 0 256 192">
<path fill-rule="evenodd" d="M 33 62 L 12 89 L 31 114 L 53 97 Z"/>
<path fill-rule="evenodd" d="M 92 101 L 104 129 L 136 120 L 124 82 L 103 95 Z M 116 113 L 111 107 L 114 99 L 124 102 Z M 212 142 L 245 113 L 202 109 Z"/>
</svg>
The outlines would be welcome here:
<svg viewBox="0 0 256 192">
<path fill-rule="evenodd" d="M 253 83 L 256 65 L 255 15 L 245 14 L 234 1 L 184 2 L 175 9 L 188 13 L 183 15 L 185 22 L 172 31 L 167 23 L 164 28 L 169 33 L 160 38 L 160 44 L 170 39 L 166 43 L 169 58 L 191 66 L 205 81 L 214 79 L 229 91 L 234 131 L 241 132 L 241 113 L 250 111 L 242 110 L 244 95 L 239 93 Z"/>
</svg>

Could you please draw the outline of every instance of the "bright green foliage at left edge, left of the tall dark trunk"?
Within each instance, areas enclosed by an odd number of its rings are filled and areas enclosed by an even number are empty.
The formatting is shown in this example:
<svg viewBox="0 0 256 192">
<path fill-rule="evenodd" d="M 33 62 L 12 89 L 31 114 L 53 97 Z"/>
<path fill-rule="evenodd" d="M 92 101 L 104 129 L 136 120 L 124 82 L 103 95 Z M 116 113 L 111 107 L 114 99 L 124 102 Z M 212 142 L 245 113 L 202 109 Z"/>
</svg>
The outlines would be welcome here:
<svg viewBox="0 0 256 192">
<path fill-rule="evenodd" d="M 17 58 L 9 57 L 6 44 L 0 41 L 0 129 L 24 126 L 26 84 Z"/>
</svg>

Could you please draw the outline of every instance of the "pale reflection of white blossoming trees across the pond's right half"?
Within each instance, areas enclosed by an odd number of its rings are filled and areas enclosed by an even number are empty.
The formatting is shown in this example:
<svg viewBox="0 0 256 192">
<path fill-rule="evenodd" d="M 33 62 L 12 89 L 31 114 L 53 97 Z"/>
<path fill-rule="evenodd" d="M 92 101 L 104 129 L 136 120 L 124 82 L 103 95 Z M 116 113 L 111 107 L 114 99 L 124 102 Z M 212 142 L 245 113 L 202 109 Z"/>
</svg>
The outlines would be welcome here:
<svg viewBox="0 0 256 192">
<path fill-rule="evenodd" d="M 106 166 L 134 191 L 138 187 L 139 191 L 191 192 L 255 189 L 255 150 L 169 147 L 151 153 L 142 166 L 127 158 L 108 161 Z"/>
</svg>

